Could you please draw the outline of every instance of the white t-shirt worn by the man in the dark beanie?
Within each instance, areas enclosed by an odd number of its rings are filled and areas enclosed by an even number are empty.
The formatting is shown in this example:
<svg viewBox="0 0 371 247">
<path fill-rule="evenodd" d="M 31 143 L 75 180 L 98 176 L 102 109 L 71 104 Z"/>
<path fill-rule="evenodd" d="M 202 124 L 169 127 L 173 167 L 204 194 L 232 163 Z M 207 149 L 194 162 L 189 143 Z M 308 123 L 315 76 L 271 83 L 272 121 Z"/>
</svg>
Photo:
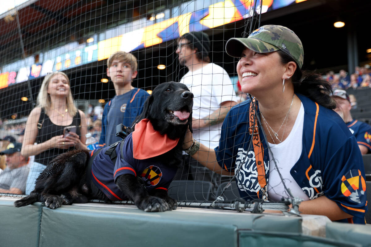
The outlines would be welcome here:
<svg viewBox="0 0 371 247">
<path fill-rule="evenodd" d="M 204 119 L 225 101 L 237 102 L 232 81 L 219 65 L 209 63 L 196 71 L 188 71 L 179 81 L 193 93 L 194 119 Z M 193 137 L 209 148 L 219 144 L 222 123 L 193 130 Z"/>
</svg>

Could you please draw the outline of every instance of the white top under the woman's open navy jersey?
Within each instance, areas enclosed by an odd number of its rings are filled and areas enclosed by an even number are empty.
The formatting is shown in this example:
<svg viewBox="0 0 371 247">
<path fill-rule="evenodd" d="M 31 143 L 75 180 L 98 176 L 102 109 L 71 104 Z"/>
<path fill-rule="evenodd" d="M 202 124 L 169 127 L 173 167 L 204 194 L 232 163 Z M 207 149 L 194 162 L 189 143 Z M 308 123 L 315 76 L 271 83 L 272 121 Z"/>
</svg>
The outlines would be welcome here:
<svg viewBox="0 0 371 247">
<path fill-rule="evenodd" d="M 268 143 L 269 146 L 269 180 L 268 180 L 268 196 L 270 200 L 280 201 L 282 197 L 289 197 L 285 191 L 282 180 L 279 177 L 277 168 L 279 169 L 283 181 L 287 188 L 290 189 L 294 197 L 309 200 L 309 197 L 304 193 L 302 188 L 296 183 L 290 174 L 291 168 L 299 160 L 303 148 L 303 126 L 304 126 L 304 106 L 301 104 L 295 124 L 289 136 L 279 144 Z M 284 126 L 282 126 L 284 127 Z M 266 133 L 269 135 L 269 133 Z M 273 153 L 273 155 L 272 155 Z M 276 160 L 277 167 L 273 161 L 273 156 Z"/>
</svg>

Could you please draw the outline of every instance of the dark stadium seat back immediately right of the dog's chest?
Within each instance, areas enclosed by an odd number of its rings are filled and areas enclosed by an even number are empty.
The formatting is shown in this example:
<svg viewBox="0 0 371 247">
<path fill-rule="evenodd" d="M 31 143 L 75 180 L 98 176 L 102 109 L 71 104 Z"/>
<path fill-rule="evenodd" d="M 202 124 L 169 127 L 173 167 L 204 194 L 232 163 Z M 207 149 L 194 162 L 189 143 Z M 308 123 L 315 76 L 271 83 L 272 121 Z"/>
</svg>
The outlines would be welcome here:
<svg viewBox="0 0 371 247">
<path fill-rule="evenodd" d="M 211 189 L 210 182 L 174 180 L 170 184 L 168 195 L 177 201 L 208 201 Z"/>
</svg>

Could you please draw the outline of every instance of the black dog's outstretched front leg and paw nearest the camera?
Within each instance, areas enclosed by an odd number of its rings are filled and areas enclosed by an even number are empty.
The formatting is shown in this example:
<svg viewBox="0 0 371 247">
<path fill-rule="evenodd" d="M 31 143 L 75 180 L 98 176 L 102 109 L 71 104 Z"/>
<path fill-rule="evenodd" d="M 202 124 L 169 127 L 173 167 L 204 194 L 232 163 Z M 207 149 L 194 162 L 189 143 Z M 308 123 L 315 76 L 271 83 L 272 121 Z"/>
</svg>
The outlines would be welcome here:
<svg viewBox="0 0 371 247">
<path fill-rule="evenodd" d="M 146 212 L 166 211 L 169 205 L 164 199 L 150 196 L 146 188 L 132 174 L 123 174 L 116 179 L 116 185 L 135 205 Z"/>
</svg>

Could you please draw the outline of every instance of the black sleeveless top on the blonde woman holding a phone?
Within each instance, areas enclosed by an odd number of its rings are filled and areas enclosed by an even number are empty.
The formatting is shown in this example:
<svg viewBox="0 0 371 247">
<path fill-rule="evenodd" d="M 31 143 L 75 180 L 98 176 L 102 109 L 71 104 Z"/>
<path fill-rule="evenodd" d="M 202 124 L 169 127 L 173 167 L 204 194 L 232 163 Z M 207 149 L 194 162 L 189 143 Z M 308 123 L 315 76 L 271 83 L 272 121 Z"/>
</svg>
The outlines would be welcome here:
<svg viewBox="0 0 371 247">
<path fill-rule="evenodd" d="M 76 128 L 76 134 L 79 135 L 81 138 L 81 116 L 80 113 L 77 112 L 77 114 L 73 117 L 72 124 L 66 125 L 66 126 L 59 126 L 55 125 L 50 121 L 49 116 L 47 116 L 44 112 L 44 109 L 41 109 L 39 123 L 42 124 L 41 128 L 38 129 L 39 133 L 36 137 L 37 143 L 43 143 L 44 141 L 49 140 L 53 136 L 60 136 L 63 135 L 63 128 L 70 125 L 75 125 Z M 48 150 L 43 151 L 40 154 L 35 155 L 35 162 L 47 165 L 50 161 L 53 160 L 56 156 L 59 154 L 65 153 L 70 150 L 74 150 L 74 147 L 70 147 L 68 149 L 60 149 L 60 148 L 50 148 Z"/>
</svg>

